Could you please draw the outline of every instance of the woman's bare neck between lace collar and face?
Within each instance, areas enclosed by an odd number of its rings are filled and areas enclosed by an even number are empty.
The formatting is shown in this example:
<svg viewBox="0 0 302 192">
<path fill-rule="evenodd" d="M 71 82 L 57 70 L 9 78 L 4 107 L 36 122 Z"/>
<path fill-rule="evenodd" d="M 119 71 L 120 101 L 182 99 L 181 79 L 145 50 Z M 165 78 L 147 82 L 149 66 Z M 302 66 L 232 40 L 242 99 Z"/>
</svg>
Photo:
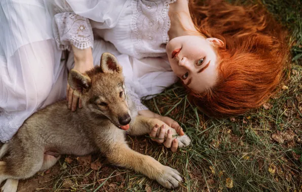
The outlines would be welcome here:
<svg viewBox="0 0 302 192">
<path fill-rule="evenodd" d="M 171 27 L 168 32 L 170 40 L 179 36 L 200 34 L 190 16 L 187 0 L 177 0 L 170 4 L 169 17 L 171 20 Z"/>
</svg>

